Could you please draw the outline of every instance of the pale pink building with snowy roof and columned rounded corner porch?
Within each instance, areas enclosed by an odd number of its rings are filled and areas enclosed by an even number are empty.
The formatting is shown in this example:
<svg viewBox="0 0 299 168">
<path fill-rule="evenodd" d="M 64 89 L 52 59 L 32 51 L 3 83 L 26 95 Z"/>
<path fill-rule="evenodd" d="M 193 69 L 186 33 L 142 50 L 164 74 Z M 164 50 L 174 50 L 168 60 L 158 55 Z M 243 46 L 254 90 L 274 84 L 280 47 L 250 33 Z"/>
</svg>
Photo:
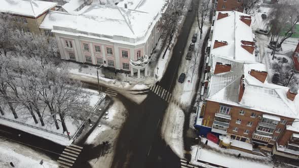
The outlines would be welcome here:
<svg viewBox="0 0 299 168">
<path fill-rule="evenodd" d="M 70 13 L 50 12 L 40 28 L 55 34 L 61 58 L 147 75 L 148 56 L 166 0 L 125 0 L 117 6 L 89 5 Z"/>
</svg>

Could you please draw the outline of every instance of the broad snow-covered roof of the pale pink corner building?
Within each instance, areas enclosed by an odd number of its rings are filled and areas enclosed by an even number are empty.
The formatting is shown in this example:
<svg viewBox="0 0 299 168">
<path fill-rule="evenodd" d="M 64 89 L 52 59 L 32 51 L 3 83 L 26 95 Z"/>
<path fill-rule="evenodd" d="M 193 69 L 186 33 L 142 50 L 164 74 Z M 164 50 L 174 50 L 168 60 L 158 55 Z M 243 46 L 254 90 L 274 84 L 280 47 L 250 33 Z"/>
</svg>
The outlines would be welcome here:
<svg viewBox="0 0 299 168">
<path fill-rule="evenodd" d="M 122 37 L 128 37 L 140 41 L 148 34 L 147 32 L 152 31 L 154 22 L 158 21 L 158 16 L 167 2 L 166 0 L 134 0 L 133 4 L 135 3 L 138 4 L 134 9 L 125 9 L 120 7 L 121 5 L 89 5 L 71 14 L 52 11 L 45 17 L 40 27 L 53 29 L 54 26 L 53 32 L 55 32 L 56 26 L 60 27 L 60 33 L 63 33 L 62 31 L 80 35 L 92 33 L 100 37 L 114 36 L 114 39 L 120 40 Z"/>
</svg>

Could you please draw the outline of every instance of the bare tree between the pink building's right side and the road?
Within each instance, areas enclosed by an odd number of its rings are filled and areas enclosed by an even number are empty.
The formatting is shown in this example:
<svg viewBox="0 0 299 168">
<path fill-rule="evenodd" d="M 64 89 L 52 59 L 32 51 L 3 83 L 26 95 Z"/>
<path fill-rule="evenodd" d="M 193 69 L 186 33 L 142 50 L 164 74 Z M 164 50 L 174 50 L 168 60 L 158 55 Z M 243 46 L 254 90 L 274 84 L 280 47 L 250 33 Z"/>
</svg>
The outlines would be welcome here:
<svg viewBox="0 0 299 168">
<path fill-rule="evenodd" d="M 168 4 L 167 10 L 162 14 L 162 18 L 158 24 L 158 28 L 162 30 L 160 38 L 162 39 L 163 46 L 166 45 L 166 50 L 163 54 L 165 56 L 176 31 L 179 26 L 179 18 L 182 14 L 183 0 L 172 0 Z"/>
</svg>

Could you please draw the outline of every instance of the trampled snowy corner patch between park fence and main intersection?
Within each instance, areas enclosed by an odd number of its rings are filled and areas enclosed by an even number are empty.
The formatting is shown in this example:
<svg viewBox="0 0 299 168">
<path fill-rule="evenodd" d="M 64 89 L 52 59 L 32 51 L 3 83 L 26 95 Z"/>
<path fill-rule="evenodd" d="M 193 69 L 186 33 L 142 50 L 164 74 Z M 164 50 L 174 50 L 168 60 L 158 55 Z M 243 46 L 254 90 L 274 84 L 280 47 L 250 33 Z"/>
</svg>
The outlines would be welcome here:
<svg viewBox="0 0 299 168">
<path fill-rule="evenodd" d="M 94 129 L 85 142 L 94 146 L 100 145 L 103 141 L 109 141 L 110 144 L 110 147 L 105 152 L 102 152 L 101 156 L 89 161 L 93 167 L 110 167 L 111 161 L 113 161 L 114 147 L 118 134 L 128 114 L 124 105 L 119 100 L 116 100 L 107 112 L 106 116 L 109 118 L 104 119 L 103 117 L 99 122 L 101 127 Z"/>
</svg>

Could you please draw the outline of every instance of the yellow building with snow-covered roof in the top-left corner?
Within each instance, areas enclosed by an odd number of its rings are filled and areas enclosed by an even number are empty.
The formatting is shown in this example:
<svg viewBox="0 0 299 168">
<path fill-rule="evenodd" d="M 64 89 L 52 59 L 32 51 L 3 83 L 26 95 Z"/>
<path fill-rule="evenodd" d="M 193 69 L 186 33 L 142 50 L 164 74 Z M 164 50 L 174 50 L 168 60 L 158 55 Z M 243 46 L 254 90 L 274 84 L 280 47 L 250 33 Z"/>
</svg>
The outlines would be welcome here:
<svg viewBox="0 0 299 168">
<path fill-rule="evenodd" d="M 49 10 L 55 10 L 57 3 L 30 0 L 2 1 L 1 13 L 12 15 L 15 26 L 25 32 L 41 33 L 39 28 Z"/>
</svg>

